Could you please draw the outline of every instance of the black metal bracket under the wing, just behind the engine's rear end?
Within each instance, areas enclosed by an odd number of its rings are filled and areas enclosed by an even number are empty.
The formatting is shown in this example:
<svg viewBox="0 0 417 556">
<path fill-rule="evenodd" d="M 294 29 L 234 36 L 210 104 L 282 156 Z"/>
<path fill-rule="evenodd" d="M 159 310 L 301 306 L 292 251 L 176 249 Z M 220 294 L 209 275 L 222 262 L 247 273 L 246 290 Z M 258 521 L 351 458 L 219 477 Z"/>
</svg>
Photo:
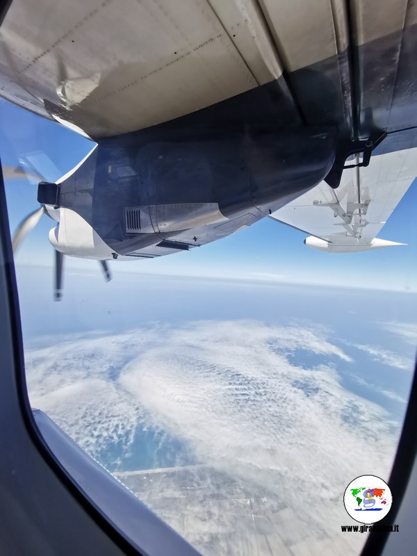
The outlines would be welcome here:
<svg viewBox="0 0 417 556">
<path fill-rule="evenodd" d="M 386 132 L 378 130 L 371 133 L 368 139 L 357 141 L 351 141 L 348 139 L 340 140 L 336 149 L 336 156 L 334 157 L 332 169 L 325 177 L 325 182 L 334 189 L 338 188 L 341 183 L 343 170 L 358 166 L 368 166 L 373 149 L 375 149 L 375 147 L 377 147 L 385 138 Z M 349 156 L 360 153 L 363 154 L 362 161 L 360 163 L 345 165 L 346 159 Z"/>
</svg>

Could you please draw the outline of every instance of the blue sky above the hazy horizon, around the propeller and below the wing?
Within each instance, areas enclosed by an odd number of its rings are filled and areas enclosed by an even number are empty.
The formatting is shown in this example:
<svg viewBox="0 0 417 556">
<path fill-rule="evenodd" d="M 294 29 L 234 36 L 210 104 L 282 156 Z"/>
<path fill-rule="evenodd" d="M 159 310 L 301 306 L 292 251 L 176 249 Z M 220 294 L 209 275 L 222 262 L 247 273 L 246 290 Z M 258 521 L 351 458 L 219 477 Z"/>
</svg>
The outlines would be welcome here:
<svg viewBox="0 0 417 556">
<path fill-rule="evenodd" d="M 70 170 L 91 149 L 91 142 L 31 113 L 0 102 L 0 154 L 3 165 L 18 165 L 19 154 L 44 152 L 53 165 L 44 165 L 45 177 L 55 180 Z M 37 206 L 35 183 L 6 183 L 9 219 L 15 229 Z M 382 229 L 384 239 L 407 247 L 357 254 L 328 254 L 305 247 L 302 232 L 266 219 L 229 238 L 152 261 L 114 263 L 118 272 L 229 277 L 323 284 L 398 291 L 417 291 L 417 186 L 409 188 Z M 42 218 L 17 254 L 17 263 L 51 265 L 53 251 L 47 234 L 54 222 Z M 69 259 L 69 258 L 68 258 Z M 68 268 L 95 268 L 95 261 L 69 259 Z"/>
</svg>

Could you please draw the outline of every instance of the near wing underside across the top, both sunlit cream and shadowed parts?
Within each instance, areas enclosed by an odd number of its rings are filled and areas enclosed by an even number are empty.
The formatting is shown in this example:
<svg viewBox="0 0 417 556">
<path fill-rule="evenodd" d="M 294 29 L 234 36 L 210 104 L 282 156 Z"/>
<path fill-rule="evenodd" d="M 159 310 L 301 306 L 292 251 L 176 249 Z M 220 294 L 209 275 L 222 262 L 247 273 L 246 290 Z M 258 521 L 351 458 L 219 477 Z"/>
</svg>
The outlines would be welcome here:
<svg viewBox="0 0 417 556">
<path fill-rule="evenodd" d="M 250 113 L 261 128 L 336 126 L 349 138 L 409 129 L 416 6 L 13 0 L 0 29 L 0 95 L 95 140 L 213 105 L 235 125 Z M 202 125 L 213 122 L 210 113 Z"/>
</svg>

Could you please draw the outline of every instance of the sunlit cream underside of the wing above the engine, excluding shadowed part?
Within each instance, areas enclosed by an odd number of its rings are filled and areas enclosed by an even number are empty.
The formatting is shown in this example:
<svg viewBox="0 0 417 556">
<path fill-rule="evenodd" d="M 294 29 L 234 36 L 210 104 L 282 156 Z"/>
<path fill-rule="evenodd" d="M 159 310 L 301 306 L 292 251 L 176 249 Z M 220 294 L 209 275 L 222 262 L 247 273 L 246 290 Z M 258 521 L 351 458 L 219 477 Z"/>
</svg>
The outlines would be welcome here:
<svg viewBox="0 0 417 556">
<path fill-rule="evenodd" d="M 355 46 L 395 36 L 395 69 L 416 23 L 416 4 L 404 0 L 13 1 L 0 28 L 0 97 L 115 136 L 341 56 L 350 35 Z M 335 94 L 345 94 L 343 79 Z M 279 87 L 293 95 L 285 79 Z"/>
</svg>

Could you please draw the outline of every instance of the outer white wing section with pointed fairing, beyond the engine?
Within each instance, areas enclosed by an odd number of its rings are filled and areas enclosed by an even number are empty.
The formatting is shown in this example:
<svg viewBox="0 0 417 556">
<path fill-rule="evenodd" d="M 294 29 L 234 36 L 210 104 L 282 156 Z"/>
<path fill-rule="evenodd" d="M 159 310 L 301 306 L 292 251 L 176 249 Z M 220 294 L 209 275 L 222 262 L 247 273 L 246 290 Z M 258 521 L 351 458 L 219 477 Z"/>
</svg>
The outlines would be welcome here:
<svg viewBox="0 0 417 556">
<path fill-rule="evenodd" d="M 402 245 L 376 236 L 416 176 L 416 147 L 376 154 L 368 167 L 344 170 L 337 189 L 322 181 L 270 218 L 311 234 L 304 243 L 322 251 Z"/>
</svg>

